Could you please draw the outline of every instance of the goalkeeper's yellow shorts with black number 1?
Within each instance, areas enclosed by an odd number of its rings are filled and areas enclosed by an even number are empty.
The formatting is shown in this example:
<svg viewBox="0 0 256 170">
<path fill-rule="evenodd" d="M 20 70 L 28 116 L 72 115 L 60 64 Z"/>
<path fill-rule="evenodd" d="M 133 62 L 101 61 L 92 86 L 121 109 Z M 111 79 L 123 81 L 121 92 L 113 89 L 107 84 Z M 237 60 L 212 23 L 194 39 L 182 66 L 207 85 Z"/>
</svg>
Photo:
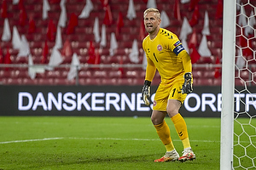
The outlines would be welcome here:
<svg viewBox="0 0 256 170">
<path fill-rule="evenodd" d="M 182 94 L 183 79 L 170 83 L 160 83 L 154 96 L 154 111 L 166 111 L 168 99 L 177 99 L 183 104 L 187 94 Z"/>
</svg>

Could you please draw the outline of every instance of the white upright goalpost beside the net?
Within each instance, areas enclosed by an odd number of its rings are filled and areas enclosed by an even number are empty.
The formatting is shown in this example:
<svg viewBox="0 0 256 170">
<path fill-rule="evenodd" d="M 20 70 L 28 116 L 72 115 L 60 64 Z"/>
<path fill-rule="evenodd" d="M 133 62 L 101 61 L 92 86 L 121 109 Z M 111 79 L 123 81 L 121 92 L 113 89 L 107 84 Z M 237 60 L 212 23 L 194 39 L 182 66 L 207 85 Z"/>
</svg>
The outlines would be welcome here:
<svg viewBox="0 0 256 170">
<path fill-rule="evenodd" d="M 233 169 L 236 1 L 224 1 L 220 170 Z"/>
</svg>

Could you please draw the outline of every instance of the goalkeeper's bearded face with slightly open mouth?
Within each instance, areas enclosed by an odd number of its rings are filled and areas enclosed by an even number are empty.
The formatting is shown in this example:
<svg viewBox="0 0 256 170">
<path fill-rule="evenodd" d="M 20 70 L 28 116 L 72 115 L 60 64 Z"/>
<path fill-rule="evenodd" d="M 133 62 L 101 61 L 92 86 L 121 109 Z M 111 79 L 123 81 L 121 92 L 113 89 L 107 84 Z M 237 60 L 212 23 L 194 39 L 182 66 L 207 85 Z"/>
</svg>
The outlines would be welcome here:
<svg viewBox="0 0 256 170">
<path fill-rule="evenodd" d="M 154 12 L 149 12 L 144 16 L 144 25 L 145 29 L 149 34 L 154 33 L 157 30 L 157 27 L 160 26 L 160 19 L 157 17 L 157 14 Z"/>
</svg>

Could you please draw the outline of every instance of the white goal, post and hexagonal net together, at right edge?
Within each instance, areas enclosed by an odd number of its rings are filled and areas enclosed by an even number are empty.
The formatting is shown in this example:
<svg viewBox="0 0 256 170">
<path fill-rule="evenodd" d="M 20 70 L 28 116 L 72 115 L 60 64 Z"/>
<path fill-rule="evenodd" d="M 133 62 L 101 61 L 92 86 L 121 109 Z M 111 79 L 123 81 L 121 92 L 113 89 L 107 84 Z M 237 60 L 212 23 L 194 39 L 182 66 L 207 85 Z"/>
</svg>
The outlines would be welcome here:
<svg viewBox="0 0 256 170">
<path fill-rule="evenodd" d="M 224 1 L 220 169 L 256 169 L 256 1 Z"/>
</svg>

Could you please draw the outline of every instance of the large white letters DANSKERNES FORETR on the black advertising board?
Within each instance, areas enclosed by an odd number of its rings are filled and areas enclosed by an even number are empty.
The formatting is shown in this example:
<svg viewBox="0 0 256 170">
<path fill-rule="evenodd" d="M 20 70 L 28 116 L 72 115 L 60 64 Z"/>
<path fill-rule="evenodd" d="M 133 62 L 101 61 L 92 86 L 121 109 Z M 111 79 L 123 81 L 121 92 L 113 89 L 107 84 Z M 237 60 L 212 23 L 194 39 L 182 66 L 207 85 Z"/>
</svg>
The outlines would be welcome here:
<svg viewBox="0 0 256 170">
<path fill-rule="evenodd" d="M 141 93 L 118 94 L 118 93 L 87 93 L 75 94 L 73 92 L 52 94 L 43 94 L 38 92 L 34 95 L 28 92 L 18 94 L 19 111 L 37 111 L 43 108 L 44 111 L 52 111 L 53 107 L 57 111 L 150 111 L 150 107 L 143 104 Z M 256 94 L 235 94 L 235 111 L 241 110 L 244 105 L 245 111 L 256 110 Z M 151 95 L 151 101 L 154 100 L 154 94 Z M 194 100 L 195 105 L 191 105 Z M 184 107 L 187 111 L 221 111 L 221 94 L 188 94 L 184 101 Z"/>
</svg>

